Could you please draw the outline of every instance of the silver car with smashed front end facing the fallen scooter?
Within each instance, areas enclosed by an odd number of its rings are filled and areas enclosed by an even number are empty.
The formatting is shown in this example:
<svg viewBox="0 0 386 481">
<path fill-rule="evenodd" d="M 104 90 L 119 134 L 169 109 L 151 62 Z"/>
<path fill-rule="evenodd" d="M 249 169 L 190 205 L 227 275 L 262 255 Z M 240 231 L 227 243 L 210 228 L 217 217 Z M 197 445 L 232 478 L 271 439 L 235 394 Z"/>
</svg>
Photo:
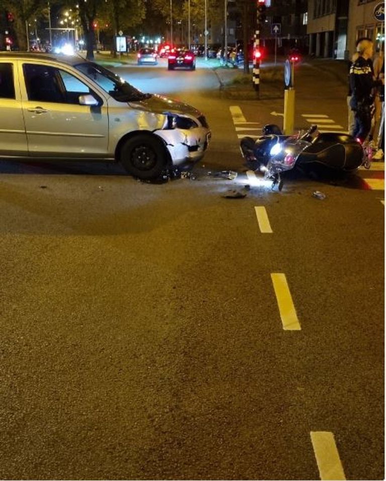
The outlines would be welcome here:
<svg viewBox="0 0 386 481">
<path fill-rule="evenodd" d="M 0 157 L 119 161 L 140 179 L 204 156 L 204 115 L 80 57 L 0 53 Z"/>
</svg>

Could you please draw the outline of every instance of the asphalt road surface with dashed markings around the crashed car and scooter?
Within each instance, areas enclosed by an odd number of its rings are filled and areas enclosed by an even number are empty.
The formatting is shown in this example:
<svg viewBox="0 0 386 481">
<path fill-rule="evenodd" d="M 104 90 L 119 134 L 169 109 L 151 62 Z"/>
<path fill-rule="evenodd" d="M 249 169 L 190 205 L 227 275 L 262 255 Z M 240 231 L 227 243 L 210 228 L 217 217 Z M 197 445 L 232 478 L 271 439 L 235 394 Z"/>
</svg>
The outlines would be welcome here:
<svg viewBox="0 0 386 481">
<path fill-rule="evenodd" d="M 383 479 L 383 164 L 272 191 L 238 136 L 282 99 L 164 67 L 116 71 L 206 114 L 196 180 L 0 164 L 0 477 Z M 344 86 L 298 73 L 297 125 L 346 129 Z"/>
</svg>

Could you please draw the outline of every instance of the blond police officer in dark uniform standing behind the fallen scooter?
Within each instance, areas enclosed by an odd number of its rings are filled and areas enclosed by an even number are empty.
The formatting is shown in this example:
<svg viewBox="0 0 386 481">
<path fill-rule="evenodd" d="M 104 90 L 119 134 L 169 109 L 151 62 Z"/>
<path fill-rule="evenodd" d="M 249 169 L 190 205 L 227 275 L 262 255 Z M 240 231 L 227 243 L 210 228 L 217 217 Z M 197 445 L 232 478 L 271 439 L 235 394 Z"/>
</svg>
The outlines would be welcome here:
<svg viewBox="0 0 386 481">
<path fill-rule="evenodd" d="M 358 58 L 350 68 L 351 101 L 350 106 L 355 112 L 355 127 L 353 136 L 361 144 L 366 140 L 371 130 L 373 114 L 372 89 L 384 84 L 384 79 L 374 80 L 369 60 L 373 55 L 373 43 L 370 39 L 362 39 L 357 46 Z"/>
</svg>

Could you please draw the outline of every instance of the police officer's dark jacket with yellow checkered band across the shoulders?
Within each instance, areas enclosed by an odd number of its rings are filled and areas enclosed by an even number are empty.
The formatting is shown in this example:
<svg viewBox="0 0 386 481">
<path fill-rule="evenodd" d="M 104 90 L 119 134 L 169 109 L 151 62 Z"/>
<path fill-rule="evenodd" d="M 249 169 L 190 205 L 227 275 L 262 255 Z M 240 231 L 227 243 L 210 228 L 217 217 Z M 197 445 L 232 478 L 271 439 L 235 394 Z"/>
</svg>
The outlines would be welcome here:
<svg viewBox="0 0 386 481">
<path fill-rule="evenodd" d="M 350 67 L 351 108 L 357 110 L 362 106 L 371 105 L 373 102 L 371 91 L 373 87 L 379 85 L 382 85 L 381 80 L 373 79 L 372 62 L 359 56 Z"/>
</svg>

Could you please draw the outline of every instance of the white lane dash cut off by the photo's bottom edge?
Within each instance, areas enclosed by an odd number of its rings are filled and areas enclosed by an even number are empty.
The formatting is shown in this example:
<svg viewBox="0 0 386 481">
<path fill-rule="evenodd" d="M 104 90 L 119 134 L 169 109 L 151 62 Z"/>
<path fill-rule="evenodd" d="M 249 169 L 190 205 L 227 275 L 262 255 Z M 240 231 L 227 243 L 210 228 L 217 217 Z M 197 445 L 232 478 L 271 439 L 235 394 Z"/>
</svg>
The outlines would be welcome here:
<svg viewBox="0 0 386 481">
<path fill-rule="evenodd" d="M 328 431 L 311 431 L 311 442 L 322 481 L 324 479 L 346 479 L 334 434 Z"/>
</svg>

